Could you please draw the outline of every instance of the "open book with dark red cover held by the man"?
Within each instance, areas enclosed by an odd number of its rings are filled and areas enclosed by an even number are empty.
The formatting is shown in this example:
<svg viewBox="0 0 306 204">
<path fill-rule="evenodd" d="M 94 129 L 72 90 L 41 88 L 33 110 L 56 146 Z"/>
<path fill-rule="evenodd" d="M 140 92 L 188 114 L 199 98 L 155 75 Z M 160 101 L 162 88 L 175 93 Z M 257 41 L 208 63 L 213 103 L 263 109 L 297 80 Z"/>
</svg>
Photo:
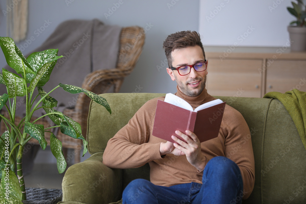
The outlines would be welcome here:
<svg viewBox="0 0 306 204">
<path fill-rule="evenodd" d="M 225 103 L 216 99 L 198 106 L 193 110 L 192 106 L 184 99 L 166 94 L 165 100 L 158 100 L 152 135 L 175 142 L 171 135 L 179 130 L 185 134 L 185 130 L 194 132 L 200 142 L 205 142 L 218 136 Z"/>
</svg>

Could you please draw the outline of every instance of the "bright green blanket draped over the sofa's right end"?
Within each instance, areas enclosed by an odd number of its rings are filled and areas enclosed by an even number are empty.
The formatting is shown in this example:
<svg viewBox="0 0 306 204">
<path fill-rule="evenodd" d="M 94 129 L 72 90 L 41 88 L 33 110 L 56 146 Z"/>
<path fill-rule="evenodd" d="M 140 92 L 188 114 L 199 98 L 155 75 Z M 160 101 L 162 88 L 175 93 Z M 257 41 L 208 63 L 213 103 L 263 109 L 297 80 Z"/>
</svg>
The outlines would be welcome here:
<svg viewBox="0 0 306 204">
<path fill-rule="evenodd" d="M 276 98 L 285 106 L 290 114 L 306 150 L 306 92 L 293 89 L 285 94 L 269 92 L 263 98 Z"/>
</svg>

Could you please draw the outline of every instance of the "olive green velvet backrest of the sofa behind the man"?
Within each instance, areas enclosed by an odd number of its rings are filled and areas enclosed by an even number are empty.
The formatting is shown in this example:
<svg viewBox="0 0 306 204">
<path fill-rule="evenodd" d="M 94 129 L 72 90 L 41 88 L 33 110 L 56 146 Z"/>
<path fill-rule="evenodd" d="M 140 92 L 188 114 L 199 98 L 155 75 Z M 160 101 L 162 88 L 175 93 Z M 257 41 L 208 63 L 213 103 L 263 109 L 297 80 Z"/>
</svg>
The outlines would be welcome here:
<svg viewBox="0 0 306 204">
<path fill-rule="evenodd" d="M 112 114 L 91 102 L 88 115 L 88 151 L 103 152 L 107 141 L 148 100 L 165 94 L 102 94 Z M 306 150 L 293 120 L 277 99 L 221 97 L 237 109 L 247 122 L 255 158 L 255 186 L 243 203 L 304 203 L 306 201 Z M 233 154 L 239 149 L 233 149 Z M 231 153 L 232 154 L 232 153 Z M 133 179 L 149 180 L 149 166 L 123 170 L 123 188 Z"/>
</svg>

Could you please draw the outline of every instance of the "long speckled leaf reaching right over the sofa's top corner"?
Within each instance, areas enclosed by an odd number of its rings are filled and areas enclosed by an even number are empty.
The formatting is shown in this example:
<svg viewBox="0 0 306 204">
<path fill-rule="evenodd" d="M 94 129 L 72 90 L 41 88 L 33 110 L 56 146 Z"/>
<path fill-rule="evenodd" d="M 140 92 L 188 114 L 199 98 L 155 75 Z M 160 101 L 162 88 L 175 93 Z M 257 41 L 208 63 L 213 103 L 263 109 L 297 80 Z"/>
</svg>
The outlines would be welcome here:
<svg viewBox="0 0 306 204">
<path fill-rule="evenodd" d="M 109 113 L 112 113 L 112 111 L 110 109 L 110 106 L 106 102 L 105 98 L 103 98 L 99 95 L 96 95 L 95 93 L 92 93 L 91 91 L 87 91 L 86 89 L 76 87 L 76 86 L 73 86 L 73 85 L 67 85 L 67 84 L 60 83 L 59 86 L 62 87 L 65 91 L 67 91 L 71 94 L 78 94 L 78 93 L 84 92 L 86 95 L 88 95 L 89 98 L 91 98 L 95 102 L 99 103 L 100 105 L 104 106 Z"/>
</svg>

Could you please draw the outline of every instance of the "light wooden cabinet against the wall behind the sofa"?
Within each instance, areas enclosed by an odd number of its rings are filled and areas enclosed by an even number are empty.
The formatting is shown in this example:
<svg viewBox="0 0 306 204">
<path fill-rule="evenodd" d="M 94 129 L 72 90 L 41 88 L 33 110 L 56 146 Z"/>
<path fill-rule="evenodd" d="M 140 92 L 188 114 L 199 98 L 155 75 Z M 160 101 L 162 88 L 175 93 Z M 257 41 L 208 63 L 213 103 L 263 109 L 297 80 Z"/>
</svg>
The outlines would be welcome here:
<svg viewBox="0 0 306 204">
<path fill-rule="evenodd" d="M 273 48 L 265 53 L 252 53 L 251 48 L 248 52 L 226 50 L 205 51 L 210 95 L 261 98 L 270 91 L 306 91 L 306 53 L 273 52 Z"/>
</svg>

